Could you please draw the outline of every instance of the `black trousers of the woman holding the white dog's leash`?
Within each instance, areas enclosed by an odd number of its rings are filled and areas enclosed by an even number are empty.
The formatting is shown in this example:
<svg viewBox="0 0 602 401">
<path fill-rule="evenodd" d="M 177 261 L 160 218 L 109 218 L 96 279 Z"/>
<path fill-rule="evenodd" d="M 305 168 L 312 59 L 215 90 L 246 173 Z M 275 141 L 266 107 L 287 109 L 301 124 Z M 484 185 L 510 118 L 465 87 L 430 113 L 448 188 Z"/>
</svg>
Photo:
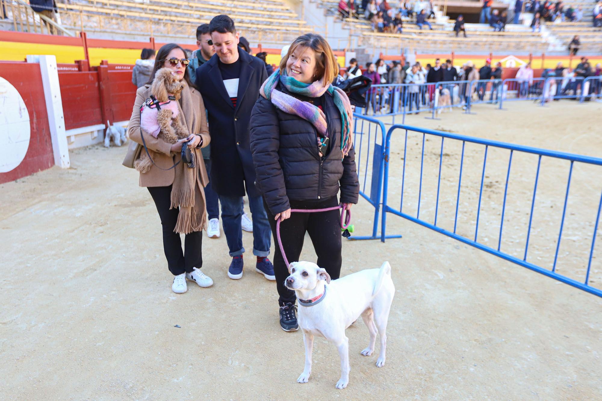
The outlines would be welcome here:
<svg viewBox="0 0 602 401">
<path fill-rule="evenodd" d="M 291 209 L 322 209 L 338 205 L 337 197 L 333 196 L 320 202 L 290 201 Z M 297 297 L 294 291 L 284 286 L 288 277 L 288 266 L 284 263 L 278 237 L 276 237 L 276 220 L 265 204 L 268 220 L 272 227 L 272 235 L 276 250 L 274 252 L 274 275 L 278 289 L 278 303 L 295 303 Z M 280 223 L 280 238 L 287 255 L 288 263 L 299 261 L 305 232 L 309 234 L 314 250 L 318 255 L 316 264 L 326 269 L 330 279 L 338 279 L 341 275 L 341 210 L 330 210 L 318 213 L 291 213 L 291 217 Z"/>
</svg>

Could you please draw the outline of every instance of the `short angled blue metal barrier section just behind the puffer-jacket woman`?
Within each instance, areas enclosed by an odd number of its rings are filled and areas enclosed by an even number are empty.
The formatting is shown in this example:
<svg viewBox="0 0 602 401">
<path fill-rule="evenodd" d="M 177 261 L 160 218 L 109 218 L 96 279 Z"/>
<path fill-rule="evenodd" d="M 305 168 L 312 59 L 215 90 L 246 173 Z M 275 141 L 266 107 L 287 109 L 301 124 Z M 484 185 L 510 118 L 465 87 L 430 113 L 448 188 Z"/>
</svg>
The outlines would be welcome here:
<svg viewBox="0 0 602 401">
<path fill-rule="evenodd" d="M 359 194 L 374 207 L 372 235 L 349 237 L 350 240 L 376 240 L 380 203 L 382 200 L 382 176 L 384 173 L 385 124 L 372 117 L 353 114 L 353 148 L 359 180 Z M 394 235 L 387 238 L 399 238 Z"/>
</svg>

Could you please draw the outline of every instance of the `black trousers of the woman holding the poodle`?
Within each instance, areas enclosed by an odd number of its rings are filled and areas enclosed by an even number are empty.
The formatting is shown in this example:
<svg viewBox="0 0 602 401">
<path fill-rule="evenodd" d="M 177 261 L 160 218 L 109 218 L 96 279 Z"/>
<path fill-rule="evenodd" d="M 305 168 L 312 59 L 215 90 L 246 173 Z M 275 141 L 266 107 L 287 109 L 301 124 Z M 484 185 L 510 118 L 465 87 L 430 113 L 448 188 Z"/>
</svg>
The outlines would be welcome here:
<svg viewBox="0 0 602 401">
<path fill-rule="evenodd" d="M 161 226 L 163 226 L 163 250 L 167 259 L 167 267 L 174 276 L 184 272 L 192 272 L 193 267 L 200 269 L 203 266 L 201 244 L 203 240 L 202 231 L 194 231 L 186 234 L 184 238 L 184 252 L 182 252 L 182 241 L 180 234 L 173 232 L 178 221 L 178 209 L 170 210 L 170 196 L 172 185 L 169 187 L 147 187 L 155 201 Z"/>
</svg>

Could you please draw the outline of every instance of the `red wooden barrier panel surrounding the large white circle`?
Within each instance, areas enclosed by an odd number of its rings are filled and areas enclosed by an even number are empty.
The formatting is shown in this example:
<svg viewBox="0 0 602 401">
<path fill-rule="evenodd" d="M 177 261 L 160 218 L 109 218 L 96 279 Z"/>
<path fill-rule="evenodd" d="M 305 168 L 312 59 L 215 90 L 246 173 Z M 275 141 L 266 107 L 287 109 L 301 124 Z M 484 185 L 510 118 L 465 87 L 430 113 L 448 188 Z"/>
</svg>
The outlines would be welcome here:
<svg viewBox="0 0 602 401">
<path fill-rule="evenodd" d="M 23 79 L 23 76 L 27 79 Z M 29 114 L 30 127 L 29 146 L 25 157 L 14 169 L 0 173 L 0 184 L 2 184 L 54 166 L 54 154 L 40 65 L 0 61 L 0 77 L 6 79 L 19 92 Z M 8 131 L 10 128 L 6 129 Z M 0 134 L 9 133 L 2 131 L 4 127 L 0 129 Z M 2 146 L 7 145 L 8 143 Z"/>
</svg>

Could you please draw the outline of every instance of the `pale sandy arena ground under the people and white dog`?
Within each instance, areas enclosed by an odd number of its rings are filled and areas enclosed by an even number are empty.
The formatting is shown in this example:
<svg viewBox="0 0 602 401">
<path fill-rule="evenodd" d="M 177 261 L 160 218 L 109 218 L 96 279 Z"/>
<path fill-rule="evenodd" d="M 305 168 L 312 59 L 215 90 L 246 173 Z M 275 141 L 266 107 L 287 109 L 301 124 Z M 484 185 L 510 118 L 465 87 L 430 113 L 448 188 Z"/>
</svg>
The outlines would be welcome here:
<svg viewBox="0 0 602 401">
<path fill-rule="evenodd" d="M 564 101 L 539 108 L 521 102 L 507 108 L 482 105 L 473 109 L 474 116 L 455 111 L 442 114 L 440 121 L 415 116 L 407 122 L 600 155 L 601 104 Z M 406 161 L 415 168 L 421 137 L 413 138 Z M 445 146 L 439 219 L 448 226 L 453 225 L 459 148 L 451 143 L 447 148 L 447 141 Z M 421 206 L 426 219 L 434 216 L 437 175 L 430 169 L 438 168 L 439 147 L 439 140 L 427 142 L 429 173 L 423 178 Z M 400 172 L 401 132 L 392 148 L 392 168 Z M 137 186 L 137 172 L 121 166 L 124 152 L 78 149 L 70 154 L 71 169 L 53 168 L 0 185 L 0 399 L 602 399 L 602 299 L 390 214 L 388 232 L 403 238 L 385 244 L 345 241 L 343 249 L 343 274 L 379 267 L 383 260 L 393 266 L 397 293 L 385 367 L 374 365 L 378 345 L 373 356 L 360 355 L 368 341 L 360 320 L 347 329 L 349 387 L 335 390 L 338 354 L 323 339 L 315 342 L 310 382 L 297 384 L 302 334 L 279 328 L 275 284 L 253 271 L 250 252 L 243 279 L 233 281 L 226 275 L 226 239 L 205 238 L 203 271 L 214 286 L 189 284 L 187 293 L 172 293 L 155 206 L 146 189 Z M 463 235 L 474 235 L 471 210 L 478 200 L 482 152 L 468 145 L 465 150 L 465 166 L 479 167 L 463 177 L 458 222 Z M 512 211 L 510 205 L 524 203 L 521 196 L 533 184 L 521 166 L 534 173 L 536 163 L 519 159 L 516 170 L 513 160 L 511 178 L 516 172 L 518 184 L 509 185 L 504 222 L 511 223 L 504 225 L 502 241 L 502 249 L 513 254 L 524 248 L 526 230 L 524 211 Z M 491 151 L 491 161 L 479 239 L 497 244 L 496 208 L 507 152 Z M 546 171 L 529 250 L 533 258 L 542 257 L 542 265 L 555 248 L 548 242 L 556 241 L 554 213 L 562 208 L 568 163 L 552 163 Z M 390 196 L 399 204 L 400 173 L 392 177 Z M 576 185 L 582 187 L 571 191 L 574 201 L 567 214 L 593 222 L 595 216 L 588 213 L 599 201 L 599 177 L 574 168 Z M 415 173 L 408 173 L 408 213 L 417 201 L 417 182 Z M 558 189 L 560 201 L 553 197 Z M 582 206 L 588 213 L 580 211 Z M 554 213 L 544 214 L 546 207 Z M 372 213 L 363 200 L 353 208 L 357 235 L 371 231 Z M 565 224 L 572 239 L 563 238 L 559 269 L 577 277 L 593 228 L 574 219 Z M 580 229 L 587 234 L 583 238 L 577 238 Z M 538 239 L 547 234 L 551 240 Z M 252 235 L 245 233 L 243 240 L 250 249 Z M 311 242 L 306 243 L 302 258 L 314 260 Z M 599 246 L 597 252 L 602 252 Z M 592 267 L 592 284 L 598 287 L 600 258 Z"/>
</svg>

